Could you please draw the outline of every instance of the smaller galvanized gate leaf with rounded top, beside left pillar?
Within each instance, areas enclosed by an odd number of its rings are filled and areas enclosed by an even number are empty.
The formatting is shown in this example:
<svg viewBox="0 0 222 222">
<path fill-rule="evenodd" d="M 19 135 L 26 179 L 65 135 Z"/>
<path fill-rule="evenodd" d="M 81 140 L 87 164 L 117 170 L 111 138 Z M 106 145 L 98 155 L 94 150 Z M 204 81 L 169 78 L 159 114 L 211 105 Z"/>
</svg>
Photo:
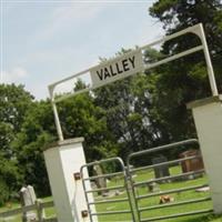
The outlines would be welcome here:
<svg viewBox="0 0 222 222">
<path fill-rule="evenodd" d="M 92 170 L 93 167 L 95 165 L 102 165 L 102 164 L 114 164 L 115 168 L 118 169 L 118 172 L 111 172 L 111 173 L 105 173 L 105 174 L 101 174 L 101 175 L 94 175 L 94 176 L 85 176 L 84 174 L 84 169 L 87 168 L 89 171 Z M 90 169 L 91 168 L 91 169 Z M 129 180 L 128 180 L 128 175 L 127 175 L 127 170 L 124 167 L 124 163 L 122 161 L 121 158 L 111 158 L 111 159 L 107 159 L 107 160 L 101 160 L 101 161 L 95 161 L 95 162 L 91 162 L 88 164 L 84 164 L 81 167 L 80 169 L 81 175 L 82 175 L 82 184 L 83 184 L 83 189 L 84 189 L 84 194 L 85 194 L 85 200 L 87 200 L 87 204 L 88 204 L 88 211 L 89 211 L 89 215 L 90 215 L 90 220 L 91 222 L 93 221 L 93 216 L 110 216 L 110 215 L 119 215 L 119 214 L 129 214 L 130 220 L 131 221 L 135 221 L 135 215 L 134 215 L 134 208 L 132 205 L 132 201 L 131 201 L 131 191 L 130 188 L 128 186 L 129 184 Z M 88 175 L 88 174 L 87 174 Z M 122 184 L 118 184 L 118 185 L 112 185 L 112 186 L 107 186 L 107 188 L 99 188 L 99 189 L 91 189 L 91 190 L 87 190 L 87 185 L 85 182 L 87 181 L 94 181 L 98 179 L 112 179 L 112 178 L 119 178 L 121 179 L 120 181 L 122 181 Z M 94 196 L 94 202 L 90 202 L 89 201 L 89 193 L 98 193 L 98 192 L 112 192 L 113 196 L 117 195 L 117 192 L 120 191 L 124 191 L 127 193 L 127 195 L 124 198 L 111 198 L 109 200 L 105 200 L 105 198 L 103 198 L 103 200 L 97 199 L 97 196 Z M 92 212 L 91 211 L 91 205 L 102 205 L 102 204 L 115 204 L 115 203 L 120 203 L 123 202 L 125 203 L 125 205 L 128 205 L 128 209 L 121 209 L 119 211 L 103 211 L 103 212 Z"/>
</svg>

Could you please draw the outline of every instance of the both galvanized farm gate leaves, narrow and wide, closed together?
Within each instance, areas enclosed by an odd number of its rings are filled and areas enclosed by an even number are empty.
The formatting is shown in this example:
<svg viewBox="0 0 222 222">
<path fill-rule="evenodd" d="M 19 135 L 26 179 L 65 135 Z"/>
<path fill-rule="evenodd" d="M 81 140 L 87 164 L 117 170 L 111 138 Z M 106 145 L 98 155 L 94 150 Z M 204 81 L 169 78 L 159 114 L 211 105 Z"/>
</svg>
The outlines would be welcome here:
<svg viewBox="0 0 222 222">
<path fill-rule="evenodd" d="M 213 212 L 213 209 L 211 208 L 211 196 L 209 192 L 202 192 L 199 198 L 192 198 L 192 192 L 196 192 L 200 189 L 206 189 L 208 184 L 201 184 L 203 180 L 201 176 L 205 173 L 204 169 L 193 170 L 189 172 L 178 172 L 173 175 L 163 175 L 160 178 L 150 178 L 149 175 L 153 174 L 155 170 L 160 168 L 169 168 L 172 169 L 181 169 L 181 164 L 185 161 L 195 161 L 200 160 L 200 154 L 194 154 L 190 157 L 179 158 L 174 160 L 167 160 L 164 162 L 160 163 L 151 163 L 151 164 L 144 164 L 142 167 L 132 167 L 137 164 L 137 159 L 142 158 L 143 160 L 148 159 L 149 157 L 153 154 L 159 154 L 161 152 L 168 153 L 173 152 L 173 150 L 176 151 L 183 151 L 186 148 L 192 148 L 198 145 L 198 140 L 191 139 L 185 140 L 176 143 L 171 143 L 140 152 L 132 153 L 127 159 L 127 167 L 124 167 L 123 161 L 120 158 L 112 158 L 108 160 L 97 161 L 89 164 L 85 164 L 81 168 L 82 173 L 82 182 L 83 186 L 87 180 L 93 181 L 99 178 L 109 178 L 109 179 L 117 179 L 119 181 L 123 181 L 121 185 L 110 185 L 102 189 L 92 189 L 92 190 L 85 190 L 85 199 L 88 202 L 88 210 L 90 214 L 90 220 L 93 222 L 93 216 L 97 215 L 103 221 L 101 216 L 109 218 L 111 214 L 115 215 L 115 218 L 111 219 L 111 221 L 133 221 L 133 222 L 145 222 L 145 221 L 160 221 L 160 220 L 167 220 L 167 219 L 174 219 L 179 216 L 188 216 L 188 215 L 194 215 L 194 214 L 205 214 Z M 182 149 L 181 149 L 182 148 Z M 95 164 L 103 164 L 103 163 L 118 163 L 119 172 L 111 172 L 111 173 L 104 173 L 97 176 L 88 176 L 84 178 L 83 169 L 84 168 L 91 168 Z M 117 168 L 117 165 L 115 165 Z M 141 174 L 141 172 L 143 172 Z M 142 176 L 137 176 L 137 173 L 140 173 Z M 148 175 L 145 178 L 145 175 Z M 122 179 L 120 179 L 122 176 Z M 195 178 L 200 178 L 199 184 L 192 184 Z M 141 180 L 142 179 L 142 180 Z M 184 182 L 184 185 L 183 183 Z M 204 181 L 205 182 L 205 181 Z M 168 186 L 171 186 L 170 184 L 174 184 L 173 189 L 169 189 Z M 155 184 L 157 186 L 160 186 L 161 190 L 150 191 L 149 188 Z M 180 184 L 180 185 L 179 185 Z M 181 185 L 182 184 L 182 185 Z M 167 188 L 167 189 L 165 189 Z M 94 202 L 88 201 L 88 193 L 97 193 L 99 191 L 117 191 L 117 190 L 124 190 L 125 194 L 124 198 L 101 198 L 100 200 L 95 200 Z M 190 193 L 189 193 L 190 192 Z M 181 196 L 183 196 L 183 193 L 189 193 L 185 200 L 181 201 Z M 120 195 L 121 196 L 121 195 Z M 165 203 L 160 203 L 159 200 L 161 198 L 167 198 Z M 97 199 L 97 198 L 95 198 Z M 174 199 L 174 200 L 171 200 Z M 91 212 L 91 205 L 94 204 L 95 206 L 99 204 L 117 204 L 120 202 L 124 202 L 125 205 L 129 205 L 128 209 L 121 209 L 121 210 L 105 210 L 105 211 L 98 211 Z M 199 203 L 205 203 L 205 205 L 199 205 Z M 198 210 L 185 210 L 185 206 L 190 205 L 192 208 L 192 204 Z M 198 204 L 198 208 L 196 205 Z M 182 209 L 180 209 L 182 206 Z M 176 209 L 179 208 L 179 209 Z M 183 209 L 184 208 L 184 209 Z M 109 208 L 107 208 L 109 209 Z M 110 208 L 111 209 L 111 208 Z M 175 209 L 176 213 L 169 213 L 165 210 L 168 209 Z M 129 214 L 125 215 L 125 218 L 120 219 L 118 218 L 119 214 Z M 104 220 L 109 221 L 109 220 Z"/>
</svg>

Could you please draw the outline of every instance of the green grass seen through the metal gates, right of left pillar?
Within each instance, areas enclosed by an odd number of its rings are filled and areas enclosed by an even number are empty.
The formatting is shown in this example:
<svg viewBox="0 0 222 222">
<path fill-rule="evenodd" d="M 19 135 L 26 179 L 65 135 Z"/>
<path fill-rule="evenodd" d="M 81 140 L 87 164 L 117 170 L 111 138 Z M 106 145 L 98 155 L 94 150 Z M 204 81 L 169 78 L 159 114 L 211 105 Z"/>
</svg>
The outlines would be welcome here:
<svg viewBox="0 0 222 222">
<path fill-rule="evenodd" d="M 171 175 L 174 174 L 180 174 L 181 173 L 181 168 L 180 167 L 173 167 L 170 169 Z M 147 170 L 142 171 L 137 174 L 133 180 L 135 182 L 142 182 L 142 181 L 149 181 L 154 178 L 154 172 L 152 170 Z M 193 179 L 193 180 L 184 180 L 184 181 L 178 181 L 178 182 L 170 182 L 170 183 L 162 183 L 159 184 L 160 191 L 165 191 L 165 190 L 173 190 L 173 189 L 180 189 L 184 186 L 193 186 L 193 185 L 202 185 L 208 183 L 206 176 Z M 121 178 L 113 179 L 110 183 L 109 186 L 114 186 L 114 185 L 121 185 L 123 184 L 123 180 Z M 147 185 L 140 186 L 137 189 L 137 195 L 143 195 L 143 194 L 149 194 L 149 190 Z M 160 193 L 161 195 L 161 193 Z M 139 208 L 147 208 L 147 206 L 152 206 L 152 205 L 159 205 L 160 201 L 160 195 L 152 196 L 149 199 L 142 199 L 139 201 Z M 200 199 L 200 198 L 205 198 L 210 196 L 210 192 L 195 192 L 194 190 L 192 191 L 186 191 L 186 192 L 181 192 L 181 193 L 174 193 L 170 194 L 174 201 L 186 201 L 186 200 L 192 200 L 192 199 Z M 114 198 L 107 198 L 107 200 L 111 199 L 119 199 L 119 198 L 127 198 L 127 194 L 121 194 Z M 100 198 L 102 200 L 102 198 Z M 168 204 L 168 203 L 167 203 Z M 125 202 L 120 202 L 120 203 L 107 203 L 107 204 L 98 204 L 97 205 L 97 211 L 98 212 L 104 212 L 104 211 L 121 211 L 121 210 L 127 210 L 129 209 L 129 204 Z M 171 208 L 163 208 L 163 209 L 157 209 L 157 210 L 149 210 L 144 211 L 141 213 L 142 219 L 148 219 L 148 218 L 155 218 L 155 216 L 163 216 L 163 215 L 169 215 L 169 214 L 178 214 L 178 213 L 184 213 L 184 212 L 191 212 L 191 211 L 198 211 L 198 210 L 204 210 L 204 209 L 212 209 L 212 202 L 211 201 L 205 201 L 201 203 L 192 203 L 192 204 L 185 204 L 185 205 L 180 205 L 180 206 L 171 206 Z M 222 221 L 222 218 L 215 218 L 213 219 L 213 215 L 192 215 L 192 216 L 183 216 L 183 218 L 176 218 L 176 219 L 171 219 L 171 220 L 162 220 L 162 221 L 171 221 L 171 222 L 194 222 L 194 221 L 212 221 L 212 222 L 219 222 Z M 108 222 L 108 221 L 131 221 L 130 214 L 115 214 L 115 215 L 102 215 L 99 216 L 100 222 Z"/>
</svg>

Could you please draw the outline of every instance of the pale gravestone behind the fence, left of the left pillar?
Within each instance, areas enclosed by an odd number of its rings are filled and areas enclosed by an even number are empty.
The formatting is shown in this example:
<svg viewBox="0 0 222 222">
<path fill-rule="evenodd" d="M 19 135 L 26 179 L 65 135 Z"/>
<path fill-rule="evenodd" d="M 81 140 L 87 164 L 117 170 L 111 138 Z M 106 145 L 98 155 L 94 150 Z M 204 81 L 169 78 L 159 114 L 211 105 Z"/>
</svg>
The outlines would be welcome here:
<svg viewBox="0 0 222 222">
<path fill-rule="evenodd" d="M 32 185 L 23 185 L 19 191 L 19 195 L 22 206 L 36 204 L 37 196 Z M 37 213 L 33 211 L 22 213 L 22 222 L 31 222 L 37 220 Z"/>
</svg>

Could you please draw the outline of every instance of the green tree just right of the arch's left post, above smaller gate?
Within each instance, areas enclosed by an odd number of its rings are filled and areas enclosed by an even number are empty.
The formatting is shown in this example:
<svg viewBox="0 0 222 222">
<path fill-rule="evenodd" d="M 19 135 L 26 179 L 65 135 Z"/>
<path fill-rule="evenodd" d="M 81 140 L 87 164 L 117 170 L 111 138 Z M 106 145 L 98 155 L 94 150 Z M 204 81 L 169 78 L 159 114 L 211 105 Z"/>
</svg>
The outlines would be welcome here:
<svg viewBox="0 0 222 222">
<path fill-rule="evenodd" d="M 83 137 L 88 161 L 113 157 L 118 147 L 108 131 L 103 110 L 93 101 L 91 93 L 82 93 L 58 104 L 64 138 Z"/>
</svg>

